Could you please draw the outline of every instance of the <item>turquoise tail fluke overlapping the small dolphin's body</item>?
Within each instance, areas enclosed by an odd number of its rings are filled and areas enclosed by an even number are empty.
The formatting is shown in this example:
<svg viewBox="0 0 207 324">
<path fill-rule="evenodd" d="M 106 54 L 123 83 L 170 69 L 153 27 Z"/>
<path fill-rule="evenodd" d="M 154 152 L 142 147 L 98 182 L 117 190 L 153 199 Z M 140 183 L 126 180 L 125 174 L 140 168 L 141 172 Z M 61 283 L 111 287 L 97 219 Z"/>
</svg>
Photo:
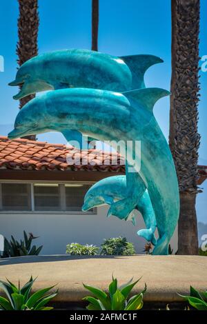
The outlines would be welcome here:
<svg viewBox="0 0 207 324">
<path fill-rule="evenodd" d="M 108 210 L 107 217 L 113 215 L 113 216 L 117 216 L 119 219 L 126 219 L 127 221 L 128 217 L 130 216 L 130 213 L 132 212 L 133 209 L 135 209 L 135 207 L 133 207 L 129 203 L 129 201 L 130 199 L 126 197 L 124 199 L 116 201 L 115 203 L 112 203 L 110 209 Z"/>
</svg>

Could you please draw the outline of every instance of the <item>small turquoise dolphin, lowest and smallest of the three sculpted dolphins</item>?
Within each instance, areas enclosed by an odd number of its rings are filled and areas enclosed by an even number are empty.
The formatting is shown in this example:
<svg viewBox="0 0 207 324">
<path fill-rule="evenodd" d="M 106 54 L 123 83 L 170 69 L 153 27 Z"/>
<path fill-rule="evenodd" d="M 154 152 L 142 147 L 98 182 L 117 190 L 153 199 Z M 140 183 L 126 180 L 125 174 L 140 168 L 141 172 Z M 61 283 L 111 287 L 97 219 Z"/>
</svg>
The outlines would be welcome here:
<svg viewBox="0 0 207 324">
<path fill-rule="evenodd" d="M 142 190 L 142 179 L 140 178 L 141 190 Z M 139 183 L 137 182 L 136 190 L 139 190 Z M 126 197 L 128 188 L 126 185 L 126 176 L 109 176 L 108 178 L 102 179 L 92 185 L 92 187 L 86 192 L 84 198 L 84 204 L 82 210 L 85 212 L 94 207 L 101 205 L 112 205 L 115 201 L 119 201 Z M 148 190 L 144 192 L 141 199 L 137 202 L 136 210 L 141 212 L 146 229 L 139 230 L 137 234 L 144 237 L 153 245 L 156 245 L 157 240 L 155 238 L 155 230 L 157 227 L 155 212 L 150 201 Z M 127 219 L 126 219 L 127 220 Z M 135 210 L 131 212 L 130 220 L 135 225 Z"/>
</svg>

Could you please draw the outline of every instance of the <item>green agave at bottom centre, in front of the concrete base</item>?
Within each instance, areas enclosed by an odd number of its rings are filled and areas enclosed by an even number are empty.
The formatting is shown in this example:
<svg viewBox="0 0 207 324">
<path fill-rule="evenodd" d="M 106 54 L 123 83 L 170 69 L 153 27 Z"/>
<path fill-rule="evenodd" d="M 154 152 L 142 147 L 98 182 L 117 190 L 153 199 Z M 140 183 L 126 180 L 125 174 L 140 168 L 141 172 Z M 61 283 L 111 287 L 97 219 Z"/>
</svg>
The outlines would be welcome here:
<svg viewBox="0 0 207 324">
<path fill-rule="evenodd" d="M 112 276 L 112 282 L 108 287 L 108 294 L 96 287 L 83 284 L 83 286 L 94 295 L 83 298 L 83 301 L 89 302 L 86 308 L 88 310 L 141 310 L 143 306 L 143 296 L 146 292 L 146 284 L 144 290 L 140 294 L 128 298 L 132 288 L 140 279 L 134 283 L 132 283 L 132 279 L 130 279 L 128 283 L 118 287 L 117 279 L 114 279 Z"/>
</svg>

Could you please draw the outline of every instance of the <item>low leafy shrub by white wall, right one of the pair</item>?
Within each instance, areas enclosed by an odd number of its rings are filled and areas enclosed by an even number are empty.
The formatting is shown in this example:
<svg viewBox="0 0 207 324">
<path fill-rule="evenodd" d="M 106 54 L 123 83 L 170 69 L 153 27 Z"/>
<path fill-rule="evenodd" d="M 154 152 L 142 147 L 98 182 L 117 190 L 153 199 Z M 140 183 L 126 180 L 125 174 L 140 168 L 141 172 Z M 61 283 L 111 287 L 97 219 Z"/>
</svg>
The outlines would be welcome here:
<svg viewBox="0 0 207 324">
<path fill-rule="evenodd" d="M 132 255 L 135 254 L 135 247 L 126 240 L 126 237 L 113 237 L 105 239 L 101 244 L 103 255 Z"/>
</svg>

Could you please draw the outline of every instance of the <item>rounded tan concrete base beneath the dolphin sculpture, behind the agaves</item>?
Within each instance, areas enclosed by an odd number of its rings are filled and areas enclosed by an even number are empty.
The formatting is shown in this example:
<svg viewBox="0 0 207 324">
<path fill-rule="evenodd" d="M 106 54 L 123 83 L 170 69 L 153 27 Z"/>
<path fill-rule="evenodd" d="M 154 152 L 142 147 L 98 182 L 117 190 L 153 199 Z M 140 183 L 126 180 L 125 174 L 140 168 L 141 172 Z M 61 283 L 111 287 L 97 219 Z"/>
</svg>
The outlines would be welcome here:
<svg viewBox="0 0 207 324">
<path fill-rule="evenodd" d="M 82 283 L 106 289 L 112 273 L 119 283 L 132 276 L 141 281 L 133 292 L 146 282 L 145 301 L 182 301 L 177 295 L 188 294 L 190 285 L 207 289 L 206 256 L 23 256 L 0 259 L 0 279 L 25 283 L 38 276 L 34 290 L 57 284 L 59 294 L 54 301 L 79 302 L 87 291 Z"/>
</svg>

